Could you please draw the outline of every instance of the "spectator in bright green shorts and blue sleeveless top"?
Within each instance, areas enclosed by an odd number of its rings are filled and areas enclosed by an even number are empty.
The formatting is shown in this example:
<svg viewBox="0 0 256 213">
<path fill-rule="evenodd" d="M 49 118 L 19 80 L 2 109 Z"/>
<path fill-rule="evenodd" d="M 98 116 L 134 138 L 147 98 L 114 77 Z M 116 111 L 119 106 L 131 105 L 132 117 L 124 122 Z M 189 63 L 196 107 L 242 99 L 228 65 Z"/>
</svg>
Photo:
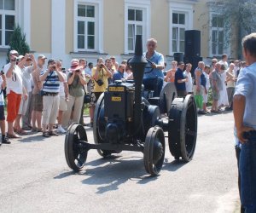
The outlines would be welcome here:
<svg viewBox="0 0 256 213">
<path fill-rule="evenodd" d="M 195 68 L 195 82 L 194 82 L 194 95 L 195 103 L 199 114 L 206 114 L 203 111 L 203 94 L 207 93 L 206 90 L 206 78 L 203 74 L 205 63 L 203 61 L 198 62 L 197 68 Z"/>
</svg>

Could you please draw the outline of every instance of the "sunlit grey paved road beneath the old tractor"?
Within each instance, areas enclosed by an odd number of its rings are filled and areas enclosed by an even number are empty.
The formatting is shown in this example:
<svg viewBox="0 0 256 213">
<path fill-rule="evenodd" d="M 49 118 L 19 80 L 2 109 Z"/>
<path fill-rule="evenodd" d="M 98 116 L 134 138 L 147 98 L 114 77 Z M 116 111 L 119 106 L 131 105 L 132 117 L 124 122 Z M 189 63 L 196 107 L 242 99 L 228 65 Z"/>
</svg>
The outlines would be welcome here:
<svg viewBox="0 0 256 213">
<path fill-rule="evenodd" d="M 86 170 L 74 174 L 64 135 L 30 135 L 0 147 L 0 212 L 233 212 L 232 132 L 232 113 L 200 117 L 194 159 L 182 164 L 166 152 L 154 178 L 144 170 L 142 153 L 102 159 L 94 150 Z M 87 133 L 93 142 L 91 129 Z"/>
</svg>

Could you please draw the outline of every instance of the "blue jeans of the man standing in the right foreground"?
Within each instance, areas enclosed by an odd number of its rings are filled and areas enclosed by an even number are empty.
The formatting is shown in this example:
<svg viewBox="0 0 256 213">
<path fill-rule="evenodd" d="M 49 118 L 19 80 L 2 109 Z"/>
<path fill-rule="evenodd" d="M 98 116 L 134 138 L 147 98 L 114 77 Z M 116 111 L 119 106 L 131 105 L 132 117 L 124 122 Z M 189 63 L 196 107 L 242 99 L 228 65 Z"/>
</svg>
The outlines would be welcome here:
<svg viewBox="0 0 256 213">
<path fill-rule="evenodd" d="M 239 170 L 241 175 L 241 204 L 246 213 L 256 212 L 256 131 L 245 136 L 241 145 Z"/>
</svg>

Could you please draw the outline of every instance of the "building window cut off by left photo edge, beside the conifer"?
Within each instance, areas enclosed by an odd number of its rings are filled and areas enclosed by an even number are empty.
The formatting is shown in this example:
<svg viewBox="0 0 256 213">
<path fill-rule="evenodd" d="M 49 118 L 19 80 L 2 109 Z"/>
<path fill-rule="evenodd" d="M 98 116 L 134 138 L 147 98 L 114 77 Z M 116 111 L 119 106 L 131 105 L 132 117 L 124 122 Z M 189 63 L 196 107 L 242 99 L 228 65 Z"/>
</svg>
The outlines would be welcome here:
<svg viewBox="0 0 256 213">
<path fill-rule="evenodd" d="M 15 28 L 15 0 L 0 0 L 0 46 L 7 47 Z"/>
</svg>

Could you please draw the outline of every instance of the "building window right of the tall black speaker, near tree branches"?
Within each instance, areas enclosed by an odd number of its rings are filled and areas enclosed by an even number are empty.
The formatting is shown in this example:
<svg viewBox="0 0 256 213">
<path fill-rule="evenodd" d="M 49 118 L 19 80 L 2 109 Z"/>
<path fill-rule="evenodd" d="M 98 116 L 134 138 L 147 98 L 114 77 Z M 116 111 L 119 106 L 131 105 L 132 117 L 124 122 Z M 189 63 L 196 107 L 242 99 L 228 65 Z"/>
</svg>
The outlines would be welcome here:
<svg viewBox="0 0 256 213">
<path fill-rule="evenodd" d="M 212 15 L 212 55 L 222 55 L 224 53 L 224 17 L 222 15 Z"/>
</svg>

